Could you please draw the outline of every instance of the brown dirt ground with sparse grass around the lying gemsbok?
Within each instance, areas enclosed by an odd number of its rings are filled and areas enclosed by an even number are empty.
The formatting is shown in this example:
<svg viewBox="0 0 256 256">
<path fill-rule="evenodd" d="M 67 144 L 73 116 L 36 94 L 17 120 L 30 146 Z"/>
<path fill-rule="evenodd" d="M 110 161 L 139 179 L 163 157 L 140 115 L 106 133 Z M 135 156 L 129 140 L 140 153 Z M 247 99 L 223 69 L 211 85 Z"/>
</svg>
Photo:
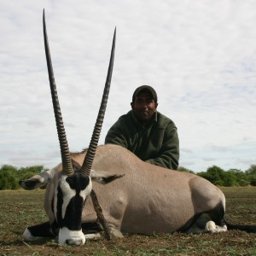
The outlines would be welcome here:
<svg viewBox="0 0 256 256">
<path fill-rule="evenodd" d="M 232 224 L 256 224 L 256 188 L 221 188 Z M 25 242 L 27 226 L 47 220 L 44 190 L 0 191 L 0 255 L 256 255 L 256 234 L 229 230 L 219 234 L 125 235 L 117 241 L 86 241 L 59 246 L 55 239 Z"/>
</svg>

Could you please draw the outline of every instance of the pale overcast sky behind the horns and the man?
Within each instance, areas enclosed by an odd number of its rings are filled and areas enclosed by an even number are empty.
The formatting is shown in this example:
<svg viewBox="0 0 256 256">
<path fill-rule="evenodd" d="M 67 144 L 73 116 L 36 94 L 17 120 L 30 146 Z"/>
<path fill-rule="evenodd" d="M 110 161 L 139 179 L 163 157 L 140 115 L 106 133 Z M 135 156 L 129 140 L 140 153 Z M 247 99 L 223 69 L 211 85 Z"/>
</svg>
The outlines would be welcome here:
<svg viewBox="0 0 256 256">
<path fill-rule="evenodd" d="M 247 170 L 256 164 L 256 1 L 2 1 L 0 165 L 61 161 L 44 55 L 43 9 L 71 151 L 87 148 L 113 79 L 100 144 L 150 84 L 177 125 L 180 166 Z"/>
</svg>

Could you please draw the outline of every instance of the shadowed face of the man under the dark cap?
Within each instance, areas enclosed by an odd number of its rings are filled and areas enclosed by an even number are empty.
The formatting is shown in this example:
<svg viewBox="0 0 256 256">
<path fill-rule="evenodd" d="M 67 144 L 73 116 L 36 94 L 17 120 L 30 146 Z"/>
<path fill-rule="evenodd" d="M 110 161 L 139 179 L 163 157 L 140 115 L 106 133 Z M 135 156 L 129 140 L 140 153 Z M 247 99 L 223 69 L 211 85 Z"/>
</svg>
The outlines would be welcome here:
<svg viewBox="0 0 256 256">
<path fill-rule="evenodd" d="M 154 102 L 153 96 L 147 90 L 139 92 L 135 97 L 134 102 L 131 102 L 133 113 L 135 113 L 137 119 L 143 125 L 147 125 L 152 119 L 157 105 L 158 104 Z"/>
</svg>

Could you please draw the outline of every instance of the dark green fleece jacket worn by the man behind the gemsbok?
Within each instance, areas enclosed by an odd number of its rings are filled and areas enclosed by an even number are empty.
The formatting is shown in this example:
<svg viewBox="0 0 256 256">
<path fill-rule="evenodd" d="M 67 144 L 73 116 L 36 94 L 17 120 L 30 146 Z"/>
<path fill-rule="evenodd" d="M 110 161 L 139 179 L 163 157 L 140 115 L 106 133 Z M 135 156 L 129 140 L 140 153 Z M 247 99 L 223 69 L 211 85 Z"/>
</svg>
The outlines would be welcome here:
<svg viewBox="0 0 256 256">
<path fill-rule="evenodd" d="M 138 123 L 132 111 L 120 116 L 109 129 L 105 143 L 127 148 L 152 165 L 177 170 L 177 127 L 171 119 L 159 112 L 154 114 L 153 120 L 146 128 Z"/>
</svg>

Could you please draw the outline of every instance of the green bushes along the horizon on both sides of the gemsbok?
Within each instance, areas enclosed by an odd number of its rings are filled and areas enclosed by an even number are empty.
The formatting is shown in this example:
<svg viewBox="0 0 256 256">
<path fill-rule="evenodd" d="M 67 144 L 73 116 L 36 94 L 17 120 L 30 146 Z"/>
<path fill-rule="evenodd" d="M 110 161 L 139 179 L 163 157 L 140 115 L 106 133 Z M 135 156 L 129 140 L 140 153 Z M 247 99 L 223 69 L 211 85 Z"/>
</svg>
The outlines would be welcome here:
<svg viewBox="0 0 256 256">
<path fill-rule="evenodd" d="M 40 172 L 48 169 L 44 166 L 28 166 L 17 168 L 15 166 L 3 165 L 0 168 L 0 190 L 3 189 L 19 189 L 19 180 L 32 177 Z M 180 172 L 191 172 L 200 177 L 206 178 L 208 181 L 217 186 L 256 186 L 256 165 L 250 166 L 245 172 L 238 169 L 230 169 L 224 171 L 218 166 L 211 166 L 207 172 L 193 172 L 180 166 Z"/>
</svg>

